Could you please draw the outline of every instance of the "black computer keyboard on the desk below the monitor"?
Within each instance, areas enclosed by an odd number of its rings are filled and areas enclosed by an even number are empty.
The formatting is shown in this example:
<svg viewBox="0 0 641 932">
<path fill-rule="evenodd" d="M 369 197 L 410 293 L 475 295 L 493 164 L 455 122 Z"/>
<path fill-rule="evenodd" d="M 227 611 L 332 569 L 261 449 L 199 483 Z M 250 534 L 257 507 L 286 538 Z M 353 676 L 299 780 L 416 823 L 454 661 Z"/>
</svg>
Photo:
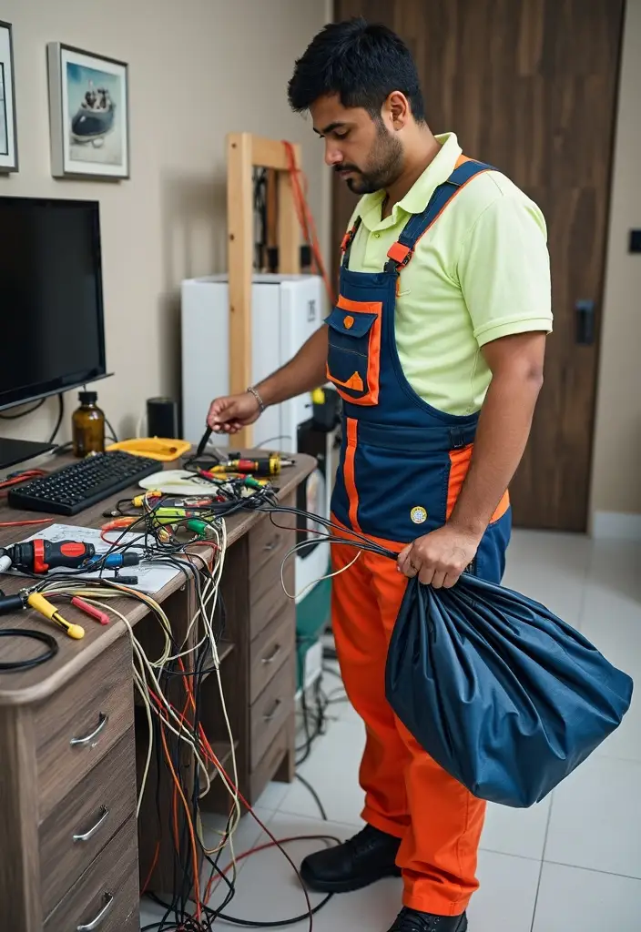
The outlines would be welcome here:
<svg viewBox="0 0 641 932">
<path fill-rule="evenodd" d="M 97 453 L 11 489 L 8 504 L 29 512 L 78 514 L 161 469 L 157 459 L 134 457 L 122 450 Z"/>
</svg>

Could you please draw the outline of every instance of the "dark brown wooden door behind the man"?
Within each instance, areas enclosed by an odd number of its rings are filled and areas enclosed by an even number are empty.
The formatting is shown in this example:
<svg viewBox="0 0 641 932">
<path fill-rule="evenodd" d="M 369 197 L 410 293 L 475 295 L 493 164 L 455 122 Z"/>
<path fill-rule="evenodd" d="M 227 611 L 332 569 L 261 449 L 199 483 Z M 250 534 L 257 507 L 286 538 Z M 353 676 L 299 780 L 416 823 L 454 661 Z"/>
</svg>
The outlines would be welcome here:
<svg viewBox="0 0 641 932">
<path fill-rule="evenodd" d="M 624 0 L 336 0 L 411 48 L 430 128 L 496 165 L 548 223 L 554 333 L 511 486 L 515 524 L 583 531 Z M 334 180 L 334 242 L 354 206 Z M 592 331 L 592 332 L 591 332 Z"/>
</svg>

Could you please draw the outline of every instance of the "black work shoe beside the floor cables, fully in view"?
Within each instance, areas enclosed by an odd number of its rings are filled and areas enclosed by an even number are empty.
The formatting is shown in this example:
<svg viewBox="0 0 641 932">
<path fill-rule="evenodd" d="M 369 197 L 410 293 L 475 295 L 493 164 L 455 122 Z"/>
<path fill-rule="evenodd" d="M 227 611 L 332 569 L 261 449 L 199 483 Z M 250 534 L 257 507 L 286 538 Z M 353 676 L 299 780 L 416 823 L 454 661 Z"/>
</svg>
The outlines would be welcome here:
<svg viewBox="0 0 641 932">
<path fill-rule="evenodd" d="M 306 857 L 301 877 L 320 893 L 361 890 L 383 877 L 401 876 L 396 866 L 400 846 L 398 838 L 367 825 L 348 842 Z"/>
</svg>

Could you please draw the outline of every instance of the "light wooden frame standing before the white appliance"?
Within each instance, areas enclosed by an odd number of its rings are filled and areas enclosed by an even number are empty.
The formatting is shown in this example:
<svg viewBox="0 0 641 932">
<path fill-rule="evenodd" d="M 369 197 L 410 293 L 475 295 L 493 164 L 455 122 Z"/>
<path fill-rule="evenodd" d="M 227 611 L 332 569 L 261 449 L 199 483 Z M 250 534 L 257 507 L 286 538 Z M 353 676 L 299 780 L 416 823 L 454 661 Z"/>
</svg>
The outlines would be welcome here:
<svg viewBox="0 0 641 932">
<path fill-rule="evenodd" d="M 301 167 L 301 149 L 293 144 Z M 253 169 L 276 172 L 278 250 L 281 275 L 300 274 L 301 231 L 293 197 L 285 144 L 251 132 L 227 135 L 227 240 L 229 276 L 229 391 L 238 394 L 252 383 L 252 277 L 254 250 Z M 239 447 L 252 445 L 252 429 L 235 436 Z"/>
</svg>

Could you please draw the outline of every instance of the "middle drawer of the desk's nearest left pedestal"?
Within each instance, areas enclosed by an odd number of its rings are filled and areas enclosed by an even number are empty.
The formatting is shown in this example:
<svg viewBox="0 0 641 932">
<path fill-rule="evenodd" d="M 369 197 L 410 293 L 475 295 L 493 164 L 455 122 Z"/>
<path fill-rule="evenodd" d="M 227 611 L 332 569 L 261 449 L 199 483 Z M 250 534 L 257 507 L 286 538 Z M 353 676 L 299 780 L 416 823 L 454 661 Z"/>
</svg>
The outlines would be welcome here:
<svg viewBox="0 0 641 932">
<path fill-rule="evenodd" d="M 40 826 L 44 915 L 135 811 L 136 749 L 131 728 Z"/>
</svg>

